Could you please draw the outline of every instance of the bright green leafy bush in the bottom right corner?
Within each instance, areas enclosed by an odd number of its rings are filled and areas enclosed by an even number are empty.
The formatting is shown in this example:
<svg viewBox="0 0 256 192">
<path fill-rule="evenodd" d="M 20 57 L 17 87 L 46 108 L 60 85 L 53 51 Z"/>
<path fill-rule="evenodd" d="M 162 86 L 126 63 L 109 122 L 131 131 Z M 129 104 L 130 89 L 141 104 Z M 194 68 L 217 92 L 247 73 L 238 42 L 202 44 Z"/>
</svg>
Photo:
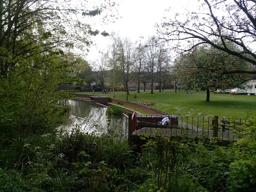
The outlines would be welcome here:
<svg viewBox="0 0 256 192">
<path fill-rule="evenodd" d="M 247 119 L 237 133 L 240 139 L 233 146 L 235 159 L 229 167 L 228 189 L 253 191 L 256 188 L 256 119 Z"/>
</svg>

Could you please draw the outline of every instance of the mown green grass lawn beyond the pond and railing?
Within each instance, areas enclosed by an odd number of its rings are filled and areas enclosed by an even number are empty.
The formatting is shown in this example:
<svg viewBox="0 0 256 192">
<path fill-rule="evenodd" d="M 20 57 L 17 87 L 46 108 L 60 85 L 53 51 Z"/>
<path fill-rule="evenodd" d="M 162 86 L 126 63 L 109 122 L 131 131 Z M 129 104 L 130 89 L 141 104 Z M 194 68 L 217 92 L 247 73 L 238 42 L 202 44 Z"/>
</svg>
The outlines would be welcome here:
<svg viewBox="0 0 256 192">
<path fill-rule="evenodd" d="M 92 94 L 91 92 L 81 92 L 84 94 Z M 137 98 L 133 98 L 134 94 Z M 94 92 L 94 95 L 102 95 L 105 97 L 113 97 L 113 93 L 101 94 Z M 115 92 L 116 99 L 126 100 L 126 92 Z M 256 95 L 230 95 L 230 94 L 214 94 L 210 93 L 210 102 L 206 102 L 206 91 L 186 93 L 185 91 L 159 90 L 150 93 L 150 90 L 130 91 L 128 101 L 138 102 L 146 99 L 154 102 L 150 107 L 165 111 L 173 115 L 184 116 L 204 116 L 212 117 L 237 117 L 245 118 L 247 114 L 256 115 Z"/>
</svg>

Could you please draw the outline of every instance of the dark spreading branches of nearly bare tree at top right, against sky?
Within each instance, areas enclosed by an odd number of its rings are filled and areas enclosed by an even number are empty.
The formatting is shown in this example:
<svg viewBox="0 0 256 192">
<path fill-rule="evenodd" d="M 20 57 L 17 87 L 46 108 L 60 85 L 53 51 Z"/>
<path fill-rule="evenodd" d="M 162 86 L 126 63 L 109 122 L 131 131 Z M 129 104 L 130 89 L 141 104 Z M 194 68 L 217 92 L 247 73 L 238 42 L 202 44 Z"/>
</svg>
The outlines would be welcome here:
<svg viewBox="0 0 256 192">
<path fill-rule="evenodd" d="M 160 38 L 173 43 L 179 52 L 192 50 L 199 44 L 210 44 L 256 65 L 256 2 L 254 0 L 204 0 L 196 12 L 177 13 L 158 26 Z M 183 19 L 185 17 L 187 19 Z M 239 49 L 230 49 L 228 43 Z M 223 74 L 256 74 L 251 70 L 223 71 Z"/>
</svg>

